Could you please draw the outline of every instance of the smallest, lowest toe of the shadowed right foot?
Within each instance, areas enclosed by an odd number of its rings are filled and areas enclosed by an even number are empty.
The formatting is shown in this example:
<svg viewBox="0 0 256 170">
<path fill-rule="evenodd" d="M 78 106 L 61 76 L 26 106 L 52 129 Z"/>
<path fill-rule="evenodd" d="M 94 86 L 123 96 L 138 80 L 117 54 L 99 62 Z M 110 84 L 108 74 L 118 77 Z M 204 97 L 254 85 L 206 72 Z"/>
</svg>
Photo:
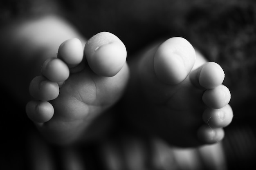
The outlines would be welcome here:
<svg viewBox="0 0 256 170">
<path fill-rule="evenodd" d="M 213 144 L 221 141 L 225 136 L 223 128 L 211 128 L 203 125 L 198 129 L 198 139 L 205 144 Z"/>
</svg>

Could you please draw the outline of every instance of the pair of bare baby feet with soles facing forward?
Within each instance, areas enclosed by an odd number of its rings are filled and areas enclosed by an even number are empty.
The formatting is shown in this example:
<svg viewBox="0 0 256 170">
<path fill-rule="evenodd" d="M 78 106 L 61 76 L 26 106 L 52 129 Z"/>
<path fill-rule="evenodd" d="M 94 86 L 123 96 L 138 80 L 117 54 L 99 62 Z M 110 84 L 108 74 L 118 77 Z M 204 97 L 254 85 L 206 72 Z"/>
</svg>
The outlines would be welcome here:
<svg viewBox="0 0 256 170">
<path fill-rule="evenodd" d="M 31 81 L 36 100 L 27 103 L 27 115 L 47 139 L 68 144 L 86 137 L 94 120 L 124 97 L 131 124 L 170 144 L 215 143 L 233 117 L 230 92 L 222 68 L 195 55 L 184 38 L 170 38 L 129 69 L 126 48 L 111 33 L 94 35 L 85 47 L 67 40 Z M 127 85 L 132 95 L 124 95 Z"/>
</svg>

